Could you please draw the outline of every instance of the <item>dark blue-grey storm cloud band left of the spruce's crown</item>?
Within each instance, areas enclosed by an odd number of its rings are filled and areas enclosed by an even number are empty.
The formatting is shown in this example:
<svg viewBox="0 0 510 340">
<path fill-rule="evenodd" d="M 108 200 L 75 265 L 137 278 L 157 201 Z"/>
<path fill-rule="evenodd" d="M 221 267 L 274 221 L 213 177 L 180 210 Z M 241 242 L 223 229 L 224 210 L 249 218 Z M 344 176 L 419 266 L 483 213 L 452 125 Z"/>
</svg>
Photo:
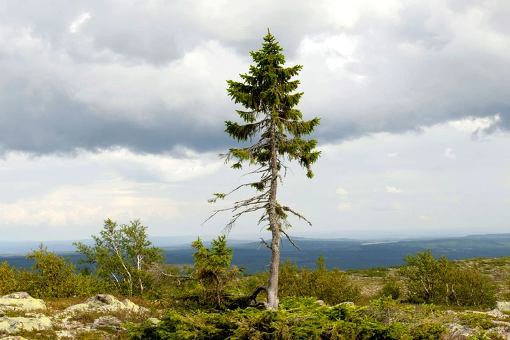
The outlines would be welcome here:
<svg viewBox="0 0 510 340">
<path fill-rule="evenodd" d="M 228 136 L 186 119 L 189 116 L 186 112 L 163 112 L 161 115 L 167 119 L 161 124 L 144 126 L 98 115 L 54 89 L 49 95 L 50 100 L 22 95 L 3 98 L 0 145 L 4 152 L 74 153 L 77 148 L 100 150 L 120 146 L 139 153 L 179 153 L 173 150 L 179 145 L 210 150 L 211 146 L 221 147 L 228 142 Z M 24 101 L 27 99 L 29 104 Z"/>
</svg>

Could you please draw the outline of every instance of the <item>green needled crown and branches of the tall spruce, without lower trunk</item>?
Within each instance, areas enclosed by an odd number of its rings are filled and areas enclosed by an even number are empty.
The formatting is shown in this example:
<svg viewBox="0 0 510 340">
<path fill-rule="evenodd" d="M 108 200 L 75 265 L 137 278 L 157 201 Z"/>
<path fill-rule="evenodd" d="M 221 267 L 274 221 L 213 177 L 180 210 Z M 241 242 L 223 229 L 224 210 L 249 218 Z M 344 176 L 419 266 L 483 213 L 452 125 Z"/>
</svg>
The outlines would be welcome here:
<svg viewBox="0 0 510 340">
<path fill-rule="evenodd" d="M 319 125 L 320 119 L 303 121 L 301 111 L 295 108 L 303 92 L 292 94 L 297 89 L 299 80 L 291 78 L 297 76 L 303 66 L 284 67 L 285 57 L 281 53 L 283 49 L 275 41 L 275 37 L 268 33 L 264 41 L 261 50 L 250 52 L 255 65 L 250 66 L 247 74 L 240 74 L 242 82 L 227 80 L 230 98 L 235 104 L 242 104 L 248 111 L 236 111 L 246 124 L 240 125 L 228 120 L 225 122 L 225 132 L 237 141 L 253 141 L 256 137 L 259 141 L 244 148 L 230 148 L 223 157 L 226 158 L 226 162 L 232 159 L 237 161 L 232 165 L 234 169 L 242 169 L 244 162 L 259 166 L 256 173 L 261 174 L 261 179 L 242 186 L 254 187 L 262 194 L 239 201 L 235 206 L 250 206 L 249 211 L 262 209 L 261 221 L 268 221 L 271 180 L 275 175 L 271 172 L 271 167 L 274 165 L 277 171 L 280 171 L 282 168 L 287 169 L 284 158 L 297 160 L 301 167 L 307 170 L 307 176 L 312 178 L 311 166 L 318 160 L 320 151 L 314 150 L 317 141 L 304 140 L 301 137 L 311 134 Z M 273 164 L 273 156 L 276 157 L 276 164 Z M 230 193 L 215 193 L 214 198 L 209 201 L 224 199 Z M 279 217 L 286 218 L 286 212 L 290 210 L 280 204 L 278 208 Z M 230 210 L 235 211 L 236 208 Z M 228 227 L 232 227 L 243 212 L 234 215 Z"/>
</svg>

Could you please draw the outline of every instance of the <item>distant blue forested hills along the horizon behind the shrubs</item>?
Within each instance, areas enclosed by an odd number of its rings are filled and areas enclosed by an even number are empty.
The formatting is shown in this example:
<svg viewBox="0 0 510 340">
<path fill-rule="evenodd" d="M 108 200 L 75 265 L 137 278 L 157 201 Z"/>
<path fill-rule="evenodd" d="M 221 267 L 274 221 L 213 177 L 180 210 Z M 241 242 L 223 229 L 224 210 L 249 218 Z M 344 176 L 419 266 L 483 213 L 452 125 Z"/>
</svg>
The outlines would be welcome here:
<svg viewBox="0 0 510 340">
<path fill-rule="evenodd" d="M 289 241 L 282 243 L 282 261 L 287 259 L 296 262 L 298 266 L 315 267 L 319 254 L 326 259 L 329 268 L 338 267 L 341 270 L 362 269 L 372 267 L 390 267 L 403 264 L 407 254 L 431 248 L 434 255 L 445 254 L 449 260 L 460 260 L 473 257 L 503 257 L 510 256 L 510 234 L 469 235 L 464 237 L 410 239 L 410 240 L 354 240 L 354 239 L 307 239 L 293 238 L 301 248 L 294 248 Z M 88 240 L 91 241 L 91 240 Z M 70 242 L 69 242 L 70 243 Z M 158 244 L 159 242 L 155 242 Z M 237 267 L 247 267 L 246 272 L 254 273 L 268 269 L 270 250 L 261 247 L 259 242 L 230 241 L 229 246 L 234 249 L 233 264 Z M 32 246 L 37 248 L 38 243 Z M 59 243 L 45 243 L 48 250 L 59 251 L 64 248 Z M 1 247 L 1 243 L 0 243 Z M 167 263 L 193 264 L 193 249 L 186 244 L 176 244 L 162 247 L 165 249 Z M 73 248 L 71 248 L 74 250 Z M 29 250 L 27 250 L 29 251 Z M 0 248 L 1 253 L 4 248 Z M 80 255 L 69 251 L 60 251 L 60 255 L 70 256 L 76 263 Z M 25 260 L 22 255 L 0 255 L 0 261 L 8 261 L 16 267 L 28 268 L 32 262 Z"/>
</svg>

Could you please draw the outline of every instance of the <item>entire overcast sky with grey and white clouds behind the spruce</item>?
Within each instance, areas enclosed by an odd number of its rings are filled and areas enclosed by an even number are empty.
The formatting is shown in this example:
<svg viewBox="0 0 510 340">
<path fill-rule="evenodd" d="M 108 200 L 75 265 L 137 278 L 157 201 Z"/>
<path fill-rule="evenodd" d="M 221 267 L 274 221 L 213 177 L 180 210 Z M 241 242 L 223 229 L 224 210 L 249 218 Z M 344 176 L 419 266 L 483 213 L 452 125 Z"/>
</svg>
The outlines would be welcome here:
<svg viewBox="0 0 510 340">
<path fill-rule="evenodd" d="M 322 119 L 290 234 L 510 232 L 510 1 L 0 0 L 0 241 L 219 234 L 207 199 L 244 180 L 217 157 L 226 80 L 268 27 Z"/>
</svg>

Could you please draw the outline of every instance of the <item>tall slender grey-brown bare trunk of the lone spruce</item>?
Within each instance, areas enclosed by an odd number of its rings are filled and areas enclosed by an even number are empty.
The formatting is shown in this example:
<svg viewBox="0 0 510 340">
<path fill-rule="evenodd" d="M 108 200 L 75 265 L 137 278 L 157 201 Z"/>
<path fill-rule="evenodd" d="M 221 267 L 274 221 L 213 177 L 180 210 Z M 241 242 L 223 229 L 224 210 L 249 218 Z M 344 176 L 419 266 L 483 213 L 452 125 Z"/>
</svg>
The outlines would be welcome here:
<svg viewBox="0 0 510 340">
<path fill-rule="evenodd" d="M 271 123 L 270 143 L 271 143 L 271 187 L 269 194 L 269 227 L 271 229 L 271 262 L 269 267 L 269 283 L 266 293 L 268 302 L 266 309 L 278 309 L 280 300 L 278 300 L 278 274 L 280 269 L 280 226 L 276 215 L 276 189 L 278 185 L 278 155 L 276 150 L 275 122 Z"/>
</svg>

